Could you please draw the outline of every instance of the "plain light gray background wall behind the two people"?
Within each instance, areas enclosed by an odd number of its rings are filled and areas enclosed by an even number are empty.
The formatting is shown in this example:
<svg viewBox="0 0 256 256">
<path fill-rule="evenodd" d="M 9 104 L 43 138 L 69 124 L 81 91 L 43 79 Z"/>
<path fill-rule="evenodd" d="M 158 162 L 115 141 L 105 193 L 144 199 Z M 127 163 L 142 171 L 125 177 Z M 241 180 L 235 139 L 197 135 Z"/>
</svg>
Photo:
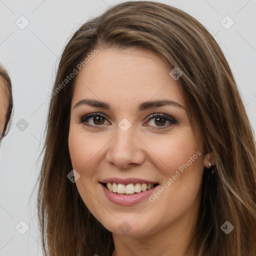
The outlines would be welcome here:
<svg viewBox="0 0 256 256">
<path fill-rule="evenodd" d="M 0 62 L 10 72 L 14 96 L 12 126 L 0 147 L 0 256 L 42 255 L 35 193 L 30 195 L 41 162 L 36 160 L 43 143 L 49 103 L 46 95 L 70 35 L 88 17 L 118 2 L 0 0 Z M 231 67 L 255 130 L 256 0 L 159 2 L 189 13 L 214 35 Z M 234 21 L 230 28 L 232 20 L 225 18 L 226 15 Z M 23 27 L 26 22 L 29 24 Z"/>
</svg>

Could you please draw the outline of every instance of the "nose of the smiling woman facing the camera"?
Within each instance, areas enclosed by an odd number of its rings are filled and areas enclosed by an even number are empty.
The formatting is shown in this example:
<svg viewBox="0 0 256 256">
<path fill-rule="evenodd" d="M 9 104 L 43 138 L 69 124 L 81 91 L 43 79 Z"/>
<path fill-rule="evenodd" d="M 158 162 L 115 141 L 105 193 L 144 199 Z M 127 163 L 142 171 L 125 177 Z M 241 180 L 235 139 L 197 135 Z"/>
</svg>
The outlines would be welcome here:
<svg viewBox="0 0 256 256">
<path fill-rule="evenodd" d="M 116 134 L 108 143 L 106 160 L 118 168 L 129 168 L 131 165 L 143 163 L 145 160 L 145 145 L 131 127 L 123 131 L 118 126 Z"/>
</svg>

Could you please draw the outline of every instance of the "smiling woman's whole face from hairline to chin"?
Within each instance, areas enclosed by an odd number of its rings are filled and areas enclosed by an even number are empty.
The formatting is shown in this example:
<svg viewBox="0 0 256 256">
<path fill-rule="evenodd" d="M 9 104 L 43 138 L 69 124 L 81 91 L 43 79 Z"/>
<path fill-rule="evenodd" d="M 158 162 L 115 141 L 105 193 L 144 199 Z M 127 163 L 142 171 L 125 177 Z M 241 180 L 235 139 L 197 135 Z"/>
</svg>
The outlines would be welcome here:
<svg viewBox="0 0 256 256">
<path fill-rule="evenodd" d="M 209 155 L 170 71 L 154 53 L 129 48 L 101 50 L 77 74 L 68 137 L 76 186 L 113 233 L 181 232 L 197 217 Z M 162 100 L 169 104 L 150 103 Z"/>
</svg>

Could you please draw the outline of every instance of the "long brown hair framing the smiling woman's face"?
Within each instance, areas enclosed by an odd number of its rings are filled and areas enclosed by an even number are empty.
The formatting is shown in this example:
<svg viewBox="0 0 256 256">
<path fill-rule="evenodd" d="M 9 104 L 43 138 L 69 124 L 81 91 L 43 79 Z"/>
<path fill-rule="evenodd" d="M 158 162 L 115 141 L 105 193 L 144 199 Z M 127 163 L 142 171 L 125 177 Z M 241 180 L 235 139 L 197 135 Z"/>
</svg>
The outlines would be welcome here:
<svg viewBox="0 0 256 256">
<path fill-rule="evenodd" d="M 205 152 L 215 155 L 215 174 L 204 171 L 199 217 L 191 244 L 198 256 L 256 255 L 255 139 L 228 63 L 211 34 L 187 13 L 153 1 L 126 1 L 93 17 L 71 36 L 51 95 L 41 172 L 38 217 L 44 253 L 111 255 L 114 245 L 88 211 L 75 183 L 68 151 L 70 104 L 75 78 L 66 76 L 95 49 L 146 48 L 178 79 L 193 127 L 202 127 Z M 62 83 L 62 86 L 60 84 Z M 60 88 L 61 87 L 61 88 Z M 221 225 L 234 229 L 226 234 Z M 188 251 L 187 251 L 188 253 Z"/>
</svg>

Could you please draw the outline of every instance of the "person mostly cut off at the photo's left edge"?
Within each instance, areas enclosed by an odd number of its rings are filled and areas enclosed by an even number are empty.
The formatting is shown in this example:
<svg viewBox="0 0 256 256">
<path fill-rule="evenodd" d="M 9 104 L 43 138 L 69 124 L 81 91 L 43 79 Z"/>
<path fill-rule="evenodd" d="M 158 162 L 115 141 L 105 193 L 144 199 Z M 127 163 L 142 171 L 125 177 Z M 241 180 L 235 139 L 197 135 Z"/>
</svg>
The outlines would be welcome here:
<svg viewBox="0 0 256 256">
<path fill-rule="evenodd" d="M 0 140 L 9 130 L 12 107 L 11 80 L 8 72 L 0 65 Z"/>
</svg>

